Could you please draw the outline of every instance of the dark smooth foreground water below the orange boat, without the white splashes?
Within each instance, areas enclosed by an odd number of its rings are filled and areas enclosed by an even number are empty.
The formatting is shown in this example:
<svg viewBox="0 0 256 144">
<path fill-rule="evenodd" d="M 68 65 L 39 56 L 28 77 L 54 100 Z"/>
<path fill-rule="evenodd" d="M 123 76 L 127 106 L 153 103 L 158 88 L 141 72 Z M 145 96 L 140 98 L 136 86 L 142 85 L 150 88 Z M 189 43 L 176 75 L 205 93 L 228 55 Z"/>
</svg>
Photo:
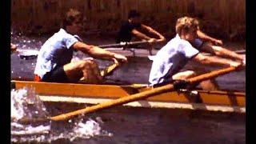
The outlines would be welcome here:
<svg viewBox="0 0 256 144">
<path fill-rule="evenodd" d="M 61 109 L 62 106 L 57 107 Z M 65 105 L 65 107 L 72 106 Z M 73 143 L 246 142 L 245 114 L 117 106 L 109 110 L 88 114 L 86 117 L 93 119 L 101 117 L 102 129 L 112 133 L 113 137 L 78 139 Z M 56 141 L 56 143 L 58 142 Z"/>
</svg>

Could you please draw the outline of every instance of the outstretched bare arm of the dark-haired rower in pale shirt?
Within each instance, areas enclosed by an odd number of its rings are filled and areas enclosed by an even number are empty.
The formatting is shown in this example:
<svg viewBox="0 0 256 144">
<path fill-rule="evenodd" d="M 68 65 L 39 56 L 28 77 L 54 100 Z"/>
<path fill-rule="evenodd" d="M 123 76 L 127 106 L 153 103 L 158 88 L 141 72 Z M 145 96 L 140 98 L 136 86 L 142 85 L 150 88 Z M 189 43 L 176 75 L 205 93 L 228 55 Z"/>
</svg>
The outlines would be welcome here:
<svg viewBox="0 0 256 144">
<path fill-rule="evenodd" d="M 108 50 L 104 50 L 98 46 L 87 45 L 83 42 L 75 42 L 73 45 L 74 49 L 81 50 L 85 54 L 90 54 L 93 58 L 112 60 L 116 58 L 122 62 L 127 62 L 127 58 L 121 54 L 115 54 Z"/>
</svg>

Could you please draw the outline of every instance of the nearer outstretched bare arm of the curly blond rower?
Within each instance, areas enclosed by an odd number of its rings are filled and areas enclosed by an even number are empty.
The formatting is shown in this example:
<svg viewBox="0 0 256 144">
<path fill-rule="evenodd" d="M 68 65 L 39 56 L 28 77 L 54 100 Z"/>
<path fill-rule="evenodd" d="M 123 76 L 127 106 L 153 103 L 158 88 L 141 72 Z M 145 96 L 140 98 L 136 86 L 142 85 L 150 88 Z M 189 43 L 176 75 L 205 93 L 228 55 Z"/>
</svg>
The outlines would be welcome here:
<svg viewBox="0 0 256 144">
<path fill-rule="evenodd" d="M 205 56 L 202 54 L 197 54 L 196 56 L 194 56 L 194 58 L 192 58 L 192 60 L 196 61 L 196 62 L 200 62 L 202 64 L 205 65 L 210 65 L 210 66 L 234 66 L 234 67 L 238 67 L 238 66 L 242 66 L 241 62 L 234 62 L 225 58 L 216 58 L 216 57 L 212 57 L 212 56 Z"/>
</svg>

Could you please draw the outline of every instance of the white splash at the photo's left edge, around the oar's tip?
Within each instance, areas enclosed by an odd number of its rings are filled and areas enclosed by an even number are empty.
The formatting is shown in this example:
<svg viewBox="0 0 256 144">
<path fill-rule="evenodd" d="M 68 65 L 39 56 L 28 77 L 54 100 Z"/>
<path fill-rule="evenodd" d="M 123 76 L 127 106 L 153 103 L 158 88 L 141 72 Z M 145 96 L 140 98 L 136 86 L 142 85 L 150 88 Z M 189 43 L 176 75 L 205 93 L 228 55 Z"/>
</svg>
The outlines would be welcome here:
<svg viewBox="0 0 256 144">
<path fill-rule="evenodd" d="M 32 87 L 11 90 L 11 142 L 26 142 L 27 135 L 34 134 L 39 135 L 34 135 L 33 139 L 38 139 L 38 142 L 44 142 L 46 137 L 41 134 L 49 134 L 50 123 L 32 126 L 22 125 L 18 123 L 18 120 L 24 117 L 32 118 L 45 115 L 46 108 L 42 105 Z"/>
</svg>

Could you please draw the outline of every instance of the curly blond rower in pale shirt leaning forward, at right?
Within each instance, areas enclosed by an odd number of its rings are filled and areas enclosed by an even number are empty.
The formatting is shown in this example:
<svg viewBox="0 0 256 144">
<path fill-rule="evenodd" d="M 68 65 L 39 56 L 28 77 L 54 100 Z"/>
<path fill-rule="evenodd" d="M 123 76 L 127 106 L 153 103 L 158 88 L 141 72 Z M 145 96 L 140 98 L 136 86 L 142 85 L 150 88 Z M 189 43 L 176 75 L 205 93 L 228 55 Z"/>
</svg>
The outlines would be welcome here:
<svg viewBox="0 0 256 144">
<path fill-rule="evenodd" d="M 216 58 L 213 56 L 204 56 L 198 46 L 192 45 L 198 38 L 198 20 L 195 18 L 182 17 L 176 22 L 176 36 L 170 42 L 163 46 L 153 58 L 153 64 L 150 70 L 149 82 L 152 86 L 161 86 L 175 80 L 186 80 L 195 75 L 206 73 L 206 70 L 193 67 L 191 70 L 182 70 L 190 60 L 203 65 L 217 66 L 242 66 L 243 58 L 239 54 L 234 54 L 229 50 L 210 49 L 218 56 L 234 55 L 239 62 Z M 238 56 L 235 56 L 238 55 Z M 185 82 L 186 83 L 186 82 Z M 204 90 L 218 90 L 218 85 L 214 79 L 206 80 L 200 83 Z"/>
</svg>

